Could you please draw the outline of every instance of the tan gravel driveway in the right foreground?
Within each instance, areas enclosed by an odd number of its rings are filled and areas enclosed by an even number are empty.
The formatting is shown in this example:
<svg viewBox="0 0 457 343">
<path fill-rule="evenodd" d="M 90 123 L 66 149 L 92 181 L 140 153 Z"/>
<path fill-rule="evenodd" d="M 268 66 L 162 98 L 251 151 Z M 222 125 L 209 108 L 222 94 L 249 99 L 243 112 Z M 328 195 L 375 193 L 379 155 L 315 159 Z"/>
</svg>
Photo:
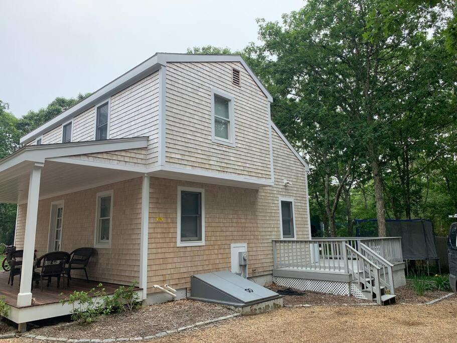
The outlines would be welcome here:
<svg viewBox="0 0 457 343">
<path fill-rule="evenodd" d="M 282 308 L 154 342 L 455 342 L 456 327 L 453 295 L 433 305 Z"/>
</svg>

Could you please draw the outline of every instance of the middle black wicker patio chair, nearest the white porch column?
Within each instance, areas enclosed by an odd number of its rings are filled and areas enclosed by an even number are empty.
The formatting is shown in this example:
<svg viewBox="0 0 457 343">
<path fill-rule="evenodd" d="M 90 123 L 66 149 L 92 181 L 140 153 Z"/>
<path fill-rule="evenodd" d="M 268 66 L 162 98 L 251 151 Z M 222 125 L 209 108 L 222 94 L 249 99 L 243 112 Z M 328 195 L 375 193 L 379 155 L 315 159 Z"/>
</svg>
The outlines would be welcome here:
<svg viewBox="0 0 457 343">
<path fill-rule="evenodd" d="M 36 265 L 39 271 L 33 273 L 32 289 L 33 281 L 40 281 L 41 291 L 43 291 L 43 279 L 48 279 L 46 286 L 49 287 L 52 277 L 57 278 L 57 288 L 59 288 L 60 278 L 65 274 L 65 265 L 68 261 L 70 261 L 70 254 L 64 251 L 54 251 L 39 257 Z"/>
</svg>

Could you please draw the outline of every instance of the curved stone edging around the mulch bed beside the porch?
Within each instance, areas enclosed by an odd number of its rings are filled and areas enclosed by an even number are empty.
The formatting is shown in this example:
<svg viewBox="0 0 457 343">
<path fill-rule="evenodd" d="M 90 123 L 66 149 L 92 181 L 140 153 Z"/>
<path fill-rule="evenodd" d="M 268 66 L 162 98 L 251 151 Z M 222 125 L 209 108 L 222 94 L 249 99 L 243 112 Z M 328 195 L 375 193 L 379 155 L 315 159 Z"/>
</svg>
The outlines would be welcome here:
<svg viewBox="0 0 457 343">
<path fill-rule="evenodd" d="M 235 318 L 235 317 L 238 317 L 240 315 L 241 315 L 240 313 L 234 313 L 234 314 L 226 315 L 226 316 L 215 318 L 215 319 L 209 319 L 209 320 L 206 320 L 206 321 L 200 321 L 198 323 L 195 323 L 195 324 L 192 324 L 192 325 L 183 326 L 183 327 L 180 327 L 180 328 L 175 329 L 175 330 L 161 331 L 161 332 L 158 332 L 156 334 L 153 334 L 153 335 L 150 335 L 150 336 L 144 336 L 144 337 L 120 337 L 120 338 L 105 338 L 105 339 L 96 339 L 96 338 L 95 339 L 91 339 L 91 338 L 74 339 L 74 338 L 64 338 L 64 337 L 46 337 L 46 336 L 35 335 L 35 334 L 31 334 L 31 333 L 24 333 L 21 336 L 22 337 L 36 339 L 36 340 L 52 340 L 52 341 L 75 342 L 75 343 L 76 342 L 78 342 L 78 343 L 82 343 L 82 342 L 85 342 L 85 343 L 88 343 L 88 342 L 91 342 L 91 343 L 125 342 L 125 341 L 133 341 L 133 340 L 137 340 L 138 341 L 138 340 L 148 340 L 148 339 L 154 339 L 154 338 L 163 337 L 163 336 L 166 336 L 166 335 L 169 335 L 169 334 L 172 334 L 172 333 L 181 332 L 181 331 L 193 328 L 193 327 L 202 326 L 202 325 L 206 325 L 206 324 L 211 324 L 211 323 L 215 323 L 215 322 L 222 321 L 222 320 L 225 320 L 225 319 Z M 16 336 L 17 335 L 13 334 L 13 335 L 11 335 L 11 337 L 4 337 L 4 338 L 15 338 Z M 3 337 L 0 336 L 0 338 L 3 338 Z"/>
</svg>

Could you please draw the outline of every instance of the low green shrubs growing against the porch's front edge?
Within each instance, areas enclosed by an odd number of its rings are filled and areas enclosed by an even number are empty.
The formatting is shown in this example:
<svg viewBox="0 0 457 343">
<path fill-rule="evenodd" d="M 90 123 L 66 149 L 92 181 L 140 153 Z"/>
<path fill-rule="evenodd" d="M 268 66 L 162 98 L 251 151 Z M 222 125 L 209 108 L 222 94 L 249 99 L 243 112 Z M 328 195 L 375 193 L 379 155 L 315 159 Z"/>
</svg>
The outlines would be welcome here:
<svg viewBox="0 0 457 343">
<path fill-rule="evenodd" d="M 88 292 L 74 291 L 70 296 L 60 300 L 63 305 L 73 306 L 71 319 L 80 324 L 97 321 L 101 315 L 120 312 L 132 312 L 141 305 L 135 292 L 136 281 L 130 286 L 120 286 L 113 294 L 107 295 L 101 283 Z"/>
</svg>

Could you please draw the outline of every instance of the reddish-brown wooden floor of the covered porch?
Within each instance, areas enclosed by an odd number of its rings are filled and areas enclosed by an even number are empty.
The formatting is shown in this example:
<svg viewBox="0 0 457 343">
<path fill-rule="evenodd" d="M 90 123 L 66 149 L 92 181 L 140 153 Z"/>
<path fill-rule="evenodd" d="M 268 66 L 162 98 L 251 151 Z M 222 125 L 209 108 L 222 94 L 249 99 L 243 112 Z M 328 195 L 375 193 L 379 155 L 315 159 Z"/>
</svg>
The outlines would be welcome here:
<svg viewBox="0 0 457 343">
<path fill-rule="evenodd" d="M 13 307 L 17 307 L 17 297 L 19 293 L 19 276 L 14 279 L 14 286 L 8 284 L 9 272 L 0 272 L 0 296 L 5 296 L 5 302 Z M 67 279 L 63 280 L 64 289 L 62 289 L 62 280 L 60 288 L 57 288 L 57 279 L 52 278 L 51 285 L 46 287 L 46 283 L 43 285 L 43 292 L 40 290 L 40 285 L 32 290 L 32 296 L 35 298 L 35 306 L 58 303 L 61 299 L 68 297 L 74 291 L 89 291 L 99 284 L 99 281 L 89 281 L 75 279 L 70 281 L 70 286 L 67 287 Z M 106 294 L 112 294 L 119 287 L 119 284 L 103 282 Z M 140 290 L 136 287 L 135 290 Z M 63 293 L 63 295 L 60 295 Z M 22 308 L 22 307 L 19 307 Z"/>
</svg>

